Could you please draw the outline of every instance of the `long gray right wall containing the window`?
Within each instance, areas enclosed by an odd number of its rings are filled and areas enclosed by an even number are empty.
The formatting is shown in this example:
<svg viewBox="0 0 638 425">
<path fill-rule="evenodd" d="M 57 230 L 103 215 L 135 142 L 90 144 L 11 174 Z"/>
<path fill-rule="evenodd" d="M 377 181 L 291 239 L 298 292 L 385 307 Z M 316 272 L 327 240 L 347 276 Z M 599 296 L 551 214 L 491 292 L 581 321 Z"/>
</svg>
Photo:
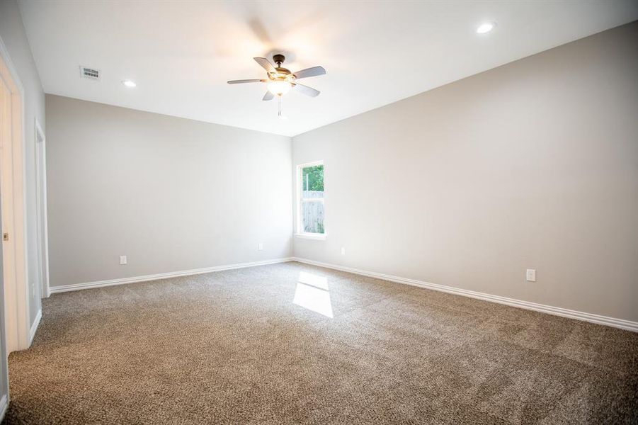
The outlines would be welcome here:
<svg viewBox="0 0 638 425">
<path fill-rule="evenodd" d="M 632 23 L 294 137 L 295 256 L 637 321 L 637 76 Z"/>
</svg>

